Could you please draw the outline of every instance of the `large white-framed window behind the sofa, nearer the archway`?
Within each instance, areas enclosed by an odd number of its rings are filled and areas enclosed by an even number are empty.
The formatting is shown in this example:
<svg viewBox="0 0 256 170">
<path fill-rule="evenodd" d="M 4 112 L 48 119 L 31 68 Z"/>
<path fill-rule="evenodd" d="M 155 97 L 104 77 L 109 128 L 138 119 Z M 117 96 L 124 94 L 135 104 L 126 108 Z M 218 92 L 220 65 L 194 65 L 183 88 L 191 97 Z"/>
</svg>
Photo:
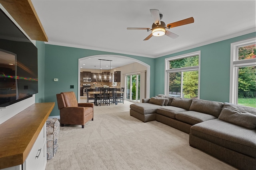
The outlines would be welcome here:
<svg viewBox="0 0 256 170">
<path fill-rule="evenodd" d="M 200 51 L 165 60 L 165 94 L 199 98 Z"/>
</svg>

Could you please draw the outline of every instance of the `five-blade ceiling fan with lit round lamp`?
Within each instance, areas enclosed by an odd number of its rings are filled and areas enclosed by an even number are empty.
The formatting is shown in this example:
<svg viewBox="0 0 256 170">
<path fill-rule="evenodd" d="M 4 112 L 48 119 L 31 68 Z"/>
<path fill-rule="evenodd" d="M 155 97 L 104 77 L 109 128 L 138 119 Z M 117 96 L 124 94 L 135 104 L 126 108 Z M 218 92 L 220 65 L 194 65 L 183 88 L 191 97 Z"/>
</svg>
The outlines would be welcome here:
<svg viewBox="0 0 256 170">
<path fill-rule="evenodd" d="M 163 17 L 163 14 L 160 14 L 159 10 L 150 9 L 151 16 L 154 20 L 154 23 L 152 24 L 152 28 L 138 28 L 138 27 L 127 27 L 127 29 L 146 29 L 147 31 L 151 31 L 152 33 L 148 35 L 143 41 L 150 39 L 152 36 L 160 37 L 162 35 L 167 35 L 168 37 L 171 37 L 173 39 L 179 37 L 179 35 L 172 33 L 166 28 L 170 29 L 173 27 L 178 27 L 181 25 L 186 25 L 189 23 L 194 23 L 194 18 L 190 17 L 184 20 L 176 21 L 173 23 L 169 23 L 165 26 L 165 23 L 163 21 L 160 21 Z"/>
</svg>

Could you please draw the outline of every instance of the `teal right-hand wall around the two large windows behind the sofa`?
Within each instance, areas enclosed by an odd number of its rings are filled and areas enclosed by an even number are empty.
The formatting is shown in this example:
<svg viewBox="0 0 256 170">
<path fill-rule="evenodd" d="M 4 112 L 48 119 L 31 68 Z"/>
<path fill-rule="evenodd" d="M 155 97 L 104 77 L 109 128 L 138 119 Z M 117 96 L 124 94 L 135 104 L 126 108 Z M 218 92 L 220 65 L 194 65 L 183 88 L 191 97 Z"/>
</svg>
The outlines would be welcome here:
<svg viewBox="0 0 256 170">
<path fill-rule="evenodd" d="M 155 71 L 155 84 L 158 87 L 154 90 L 155 95 L 164 94 L 164 60 L 166 58 L 201 51 L 200 99 L 229 102 L 230 44 L 255 36 L 254 32 L 157 58 L 156 66 L 161 69 Z"/>
</svg>

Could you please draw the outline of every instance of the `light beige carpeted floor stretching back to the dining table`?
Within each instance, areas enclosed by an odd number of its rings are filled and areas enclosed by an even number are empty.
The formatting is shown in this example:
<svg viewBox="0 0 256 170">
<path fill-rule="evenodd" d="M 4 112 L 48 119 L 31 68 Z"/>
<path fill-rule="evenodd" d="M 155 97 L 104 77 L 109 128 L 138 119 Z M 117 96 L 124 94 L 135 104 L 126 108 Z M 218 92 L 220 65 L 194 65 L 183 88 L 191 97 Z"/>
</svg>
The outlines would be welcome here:
<svg viewBox="0 0 256 170">
<path fill-rule="evenodd" d="M 46 170 L 235 169 L 190 147 L 188 134 L 168 125 L 143 123 L 129 111 L 103 113 L 97 109 L 94 121 L 87 122 L 84 129 L 81 125 L 60 127 L 58 151 L 47 161 Z"/>
</svg>

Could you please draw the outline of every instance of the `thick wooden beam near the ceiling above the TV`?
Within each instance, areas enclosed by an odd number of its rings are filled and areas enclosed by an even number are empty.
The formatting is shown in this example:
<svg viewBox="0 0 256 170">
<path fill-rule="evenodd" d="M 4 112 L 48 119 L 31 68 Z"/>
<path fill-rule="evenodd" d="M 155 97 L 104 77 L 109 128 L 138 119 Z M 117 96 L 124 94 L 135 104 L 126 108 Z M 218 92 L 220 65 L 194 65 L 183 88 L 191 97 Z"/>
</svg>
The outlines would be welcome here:
<svg viewBox="0 0 256 170">
<path fill-rule="evenodd" d="M 0 3 L 32 40 L 48 41 L 31 0 L 0 0 Z"/>
</svg>

